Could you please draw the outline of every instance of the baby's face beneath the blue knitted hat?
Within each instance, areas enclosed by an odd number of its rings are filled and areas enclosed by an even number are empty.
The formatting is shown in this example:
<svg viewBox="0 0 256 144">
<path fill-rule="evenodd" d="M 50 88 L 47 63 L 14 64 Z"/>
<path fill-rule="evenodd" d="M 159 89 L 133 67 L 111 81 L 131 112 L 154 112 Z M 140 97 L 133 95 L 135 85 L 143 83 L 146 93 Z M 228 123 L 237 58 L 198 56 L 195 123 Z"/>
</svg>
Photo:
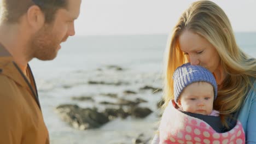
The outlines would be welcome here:
<svg viewBox="0 0 256 144">
<path fill-rule="evenodd" d="M 183 89 L 178 106 L 187 112 L 210 115 L 213 109 L 213 86 L 207 82 L 195 82 Z"/>
</svg>

